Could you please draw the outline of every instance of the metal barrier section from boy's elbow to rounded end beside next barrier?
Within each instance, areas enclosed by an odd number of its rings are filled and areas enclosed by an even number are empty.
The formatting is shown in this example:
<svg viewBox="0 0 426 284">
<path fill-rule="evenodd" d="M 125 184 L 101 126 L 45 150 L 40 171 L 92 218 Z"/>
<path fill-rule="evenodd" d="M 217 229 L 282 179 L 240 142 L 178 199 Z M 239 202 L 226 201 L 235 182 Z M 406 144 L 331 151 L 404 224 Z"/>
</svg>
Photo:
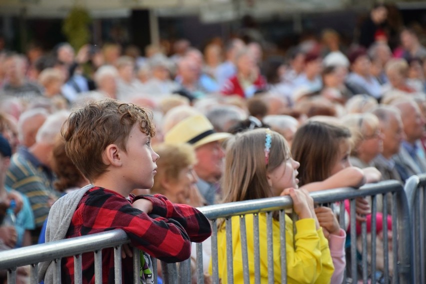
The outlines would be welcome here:
<svg viewBox="0 0 426 284">
<path fill-rule="evenodd" d="M 351 224 L 355 224 L 356 220 L 355 220 L 355 198 L 357 197 L 366 197 L 366 196 L 372 196 L 372 205 L 371 205 L 371 210 L 372 210 L 372 228 L 375 228 L 375 223 L 376 223 L 376 218 L 375 218 L 375 213 L 376 213 L 376 200 L 375 200 L 375 196 L 376 195 L 385 195 L 383 200 L 383 231 L 386 232 L 387 231 L 387 223 L 386 223 L 386 219 L 387 219 L 387 202 L 386 202 L 386 198 L 388 193 L 391 193 L 392 195 L 392 200 L 393 200 L 393 204 L 396 206 L 392 207 L 392 216 L 396 216 L 397 218 L 392 218 L 392 233 L 393 233 L 393 238 L 392 238 L 392 246 L 393 246 L 393 251 L 394 253 L 394 257 L 393 257 L 393 263 L 392 268 L 393 268 L 393 283 L 401 283 L 401 284 L 411 284 L 411 279 L 412 279 L 412 273 L 411 273 L 411 242 L 410 242 L 410 238 L 411 238 L 411 234 L 410 234 L 410 216 L 408 213 L 408 203 L 407 203 L 407 199 L 405 196 L 405 192 L 402 188 L 402 185 L 399 182 L 396 181 L 385 181 L 385 182 L 381 182 L 381 183 L 377 183 L 377 184 L 372 184 L 372 185 L 366 185 L 358 190 L 354 190 L 354 189 L 350 189 L 350 188 L 346 188 L 346 189 L 333 189 L 333 190 L 326 190 L 326 191 L 319 191 L 319 192 L 314 192 L 311 193 L 311 196 L 313 197 L 314 201 L 316 203 L 322 203 L 322 204 L 327 204 L 327 203 L 333 203 L 333 202 L 338 202 L 338 201 L 342 201 L 345 199 L 349 199 L 350 200 L 350 216 L 351 216 L 351 220 L 350 223 Z M 241 216 L 241 215 L 245 215 L 245 214 L 253 214 L 253 213 L 261 213 L 261 212 L 266 212 L 268 214 L 268 219 L 270 219 L 271 215 L 270 212 L 272 211 L 280 211 L 280 228 L 284 228 L 285 223 L 284 223 L 284 210 L 287 208 L 291 207 L 291 199 L 288 197 L 275 197 L 275 198 L 268 198 L 268 199 L 263 199 L 263 200 L 252 200 L 252 201 L 244 201 L 244 202 L 235 202 L 232 204 L 220 204 L 220 205 L 212 205 L 212 206 L 207 206 L 207 207 L 203 207 L 201 208 L 201 212 L 210 220 L 212 220 L 212 228 L 213 228 L 213 235 L 211 238 L 211 259 L 212 259 L 212 279 L 213 279 L 213 283 L 218 283 L 218 268 L 217 268 L 217 231 L 216 231 L 216 220 L 218 218 L 226 218 L 228 220 L 229 217 L 231 216 Z M 344 212 L 344 207 L 343 207 L 343 203 L 340 203 L 340 212 Z M 255 223 L 255 222 L 254 222 Z M 270 221 L 268 222 L 270 223 Z M 226 222 L 226 229 L 227 229 L 227 233 L 229 234 L 228 231 L 230 231 L 230 228 L 228 228 L 230 226 L 230 222 Z M 340 224 L 344 225 L 344 218 L 343 218 L 343 214 L 340 215 Z M 271 226 L 268 226 L 267 230 L 270 230 Z M 362 249 L 362 280 L 364 283 L 367 283 L 367 256 L 366 256 L 366 223 L 362 222 L 361 225 L 361 235 L 362 235 L 362 244 L 363 244 L 363 249 Z M 258 236 L 258 231 L 256 232 L 256 230 L 258 230 L 258 227 L 256 227 L 256 225 L 254 225 L 254 238 L 256 237 L 256 235 Z M 243 230 L 242 230 L 243 231 Z M 282 230 L 281 230 L 282 232 Z M 269 234 L 270 232 L 268 232 Z M 241 233 L 241 240 L 244 240 L 245 237 L 243 236 L 245 233 L 242 232 Z M 371 251 L 375 252 L 375 239 L 376 239 L 376 235 L 375 235 L 375 230 L 371 230 L 371 239 L 372 239 L 372 248 Z M 355 240 L 356 239 L 356 227 L 355 226 L 351 226 L 350 229 L 350 236 L 351 236 L 351 240 Z M 244 242 L 241 242 L 241 246 L 243 246 L 244 248 L 242 248 L 242 251 L 246 252 L 246 244 L 244 244 Z M 231 243 L 227 241 L 226 243 L 226 247 L 228 252 L 232 251 L 231 248 Z M 283 246 L 281 246 L 283 247 Z M 201 254 L 198 252 L 198 250 L 201 250 L 201 246 L 197 246 L 197 256 L 200 256 Z M 355 242 L 351 242 L 351 275 L 352 275 L 352 283 L 356 283 L 357 282 L 357 273 L 356 273 L 356 264 L 357 264 L 357 259 L 356 259 L 356 253 L 357 253 L 357 249 L 356 249 L 356 243 Z M 388 239 L 387 239 L 387 234 L 383 234 L 383 252 L 384 252 L 384 281 L 388 283 L 389 280 L 389 271 L 388 271 L 388 258 L 387 258 L 387 253 L 388 253 Z M 272 267 L 272 262 L 273 260 L 271 259 L 271 253 L 270 251 L 268 251 L 268 269 L 270 267 Z M 256 254 L 256 253 L 255 253 Z M 284 259 L 281 259 L 281 275 L 285 276 L 285 262 L 283 260 L 285 260 L 285 249 L 281 250 L 281 257 L 284 256 Z M 375 254 L 372 254 L 372 260 L 371 260 L 371 270 L 374 271 L 375 270 Z M 255 272 L 257 272 L 259 270 L 259 266 L 258 266 L 258 259 L 256 260 L 256 258 L 258 258 L 258 254 L 254 257 L 255 261 Z M 247 268 L 248 267 L 248 263 L 246 261 L 246 257 L 244 256 L 243 253 L 243 268 Z M 228 264 L 227 264 L 227 268 L 228 268 L 228 279 L 227 282 L 228 283 L 233 283 L 232 281 L 232 259 L 229 256 L 228 253 L 228 258 L 227 258 Z M 198 260 L 197 259 L 197 273 L 200 274 L 202 273 L 202 260 Z M 273 271 L 270 272 L 268 271 L 268 275 L 273 275 Z M 375 279 L 374 279 L 374 274 L 371 275 L 371 283 L 375 283 Z M 198 275 L 197 277 L 198 282 L 197 283 L 203 283 L 202 278 Z M 258 282 L 259 278 L 258 276 L 255 275 L 255 283 L 259 283 Z M 271 282 L 271 279 L 269 278 L 268 282 Z M 283 277 L 283 279 L 281 280 L 282 283 L 286 283 L 286 279 L 285 277 Z M 244 282 L 246 283 L 246 281 Z"/>
</svg>

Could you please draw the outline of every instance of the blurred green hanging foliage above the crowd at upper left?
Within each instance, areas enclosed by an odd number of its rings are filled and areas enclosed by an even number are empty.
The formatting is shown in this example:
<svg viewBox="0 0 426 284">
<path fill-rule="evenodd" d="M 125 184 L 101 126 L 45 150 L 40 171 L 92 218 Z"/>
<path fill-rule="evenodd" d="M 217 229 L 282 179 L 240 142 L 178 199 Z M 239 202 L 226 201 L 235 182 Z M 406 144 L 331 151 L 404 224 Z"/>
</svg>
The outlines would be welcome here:
<svg viewBox="0 0 426 284">
<path fill-rule="evenodd" d="M 89 42 L 90 23 L 90 15 L 82 7 L 73 7 L 63 20 L 62 32 L 74 50 L 77 51 L 81 46 Z"/>
</svg>

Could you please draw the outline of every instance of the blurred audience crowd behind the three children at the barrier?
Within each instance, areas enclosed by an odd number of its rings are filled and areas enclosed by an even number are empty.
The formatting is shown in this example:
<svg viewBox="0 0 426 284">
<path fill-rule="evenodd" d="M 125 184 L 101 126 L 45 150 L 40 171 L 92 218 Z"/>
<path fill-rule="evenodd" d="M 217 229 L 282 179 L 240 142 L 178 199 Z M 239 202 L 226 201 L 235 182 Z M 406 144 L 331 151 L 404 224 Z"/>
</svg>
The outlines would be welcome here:
<svg viewBox="0 0 426 284">
<path fill-rule="evenodd" d="M 379 4 L 353 40 L 324 28 L 303 32 L 285 50 L 252 25 L 202 46 L 164 39 L 143 50 L 116 41 L 78 49 L 60 42 L 50 50 L 29 44 L 16 52 L 2 41 L 0 196 L 5 207 L 15 200 L 19 214 L 33 217 L 16 231 L 2 226 L 0 239 L 9 247 L 35 243 L 49 206 L 87 183 L 56 137 L 71 109 L 102 98 L 152 111 L 160 159 L 151 192 L 173 202 L 220 200 L 219 142 L 227 136 L 266 126 L 291 145 L 312 117 L 350 128 L 354 166 L 402 182 L 426 172 L 426 30 L 394 18 L 394 7 Z M 170 145 L 213 129 L 223 135 L 194 147 Z"/>
</svg>

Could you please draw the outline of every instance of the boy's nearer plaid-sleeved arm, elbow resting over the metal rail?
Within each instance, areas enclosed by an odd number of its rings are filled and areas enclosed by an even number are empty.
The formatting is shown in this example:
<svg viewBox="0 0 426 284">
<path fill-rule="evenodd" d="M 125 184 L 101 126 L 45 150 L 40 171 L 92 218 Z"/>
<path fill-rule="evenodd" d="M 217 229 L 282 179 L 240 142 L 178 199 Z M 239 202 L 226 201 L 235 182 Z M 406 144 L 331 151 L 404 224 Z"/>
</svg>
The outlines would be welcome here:
<svg viewBox="0 0 426 284">
<path fill-rule="evenodd" d="M 190 257 L 191 242 L 179 222 L 159 216 L 151 218 L 117 195 L 91 196 L 80 216 L 87 230 L 84 235 L 122 229 L 133 246 L 161 261 L 174 263 Z"/>
</svg>

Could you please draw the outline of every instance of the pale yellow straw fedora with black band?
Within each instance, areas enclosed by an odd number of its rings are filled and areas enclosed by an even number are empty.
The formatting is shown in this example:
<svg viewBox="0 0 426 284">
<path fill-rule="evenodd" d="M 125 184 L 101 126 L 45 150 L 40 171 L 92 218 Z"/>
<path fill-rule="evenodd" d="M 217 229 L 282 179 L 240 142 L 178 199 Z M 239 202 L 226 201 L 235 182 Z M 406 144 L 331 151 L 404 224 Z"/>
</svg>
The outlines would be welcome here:
<svg viewBox="0 0 426 284">
<path fill-rule="evenodd" d="M 197 148 L 230 136 L 229 133 L 215 132 L 213 125 L 204 115 L 195 115 L 185 118 L 167 131 L 164 135 L 164 142 L 168 144 L 188 143 Z"/>
</svg>

